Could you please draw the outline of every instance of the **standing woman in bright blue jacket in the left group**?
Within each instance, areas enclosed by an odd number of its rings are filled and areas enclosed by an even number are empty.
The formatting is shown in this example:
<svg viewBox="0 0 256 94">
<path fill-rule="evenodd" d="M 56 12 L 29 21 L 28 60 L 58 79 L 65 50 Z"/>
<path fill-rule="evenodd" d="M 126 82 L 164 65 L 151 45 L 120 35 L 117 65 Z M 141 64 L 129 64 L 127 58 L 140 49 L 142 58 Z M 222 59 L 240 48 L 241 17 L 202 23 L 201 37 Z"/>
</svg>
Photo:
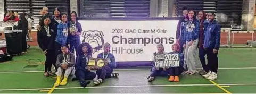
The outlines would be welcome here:
<svg viewBox="0 0 256 94">
<path fill-rule="evenodd" d="M 55 50 L 56 55 L 61 54 L 61 47 L 67 46 L 68 39 L 68 23 L 67 23 L 67 14 L 61 14 L 61 23 L 57 27 L 57 36 L 55 38 Z"/>
</svg>

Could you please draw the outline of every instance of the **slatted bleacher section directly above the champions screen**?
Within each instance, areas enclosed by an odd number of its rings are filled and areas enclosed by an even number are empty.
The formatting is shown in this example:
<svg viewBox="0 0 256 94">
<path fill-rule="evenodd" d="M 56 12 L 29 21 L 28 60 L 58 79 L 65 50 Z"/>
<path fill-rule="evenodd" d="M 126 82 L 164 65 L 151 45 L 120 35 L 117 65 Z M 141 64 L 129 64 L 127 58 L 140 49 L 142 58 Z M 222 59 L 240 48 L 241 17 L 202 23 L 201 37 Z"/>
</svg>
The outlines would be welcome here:
<svg viewBox="0 0 256 94">
<path fill-rule="evenodd" d="M 148 17 L 150 0 L 84 0 L 82 13 L 85 18 Z"/>
</svg>

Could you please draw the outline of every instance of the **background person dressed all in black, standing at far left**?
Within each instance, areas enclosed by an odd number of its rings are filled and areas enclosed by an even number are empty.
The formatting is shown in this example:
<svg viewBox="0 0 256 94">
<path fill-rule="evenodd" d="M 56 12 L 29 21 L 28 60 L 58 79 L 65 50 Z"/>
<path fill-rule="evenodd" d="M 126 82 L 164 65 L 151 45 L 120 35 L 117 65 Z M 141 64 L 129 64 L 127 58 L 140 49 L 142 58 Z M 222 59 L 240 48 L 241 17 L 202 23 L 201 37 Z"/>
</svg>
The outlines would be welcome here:
<svg viewBox="0 0 256 94">
<path fill-rule="evenodd" d="M 18 22 L 17 29 L 22 30 L 22 54 L 27 53 L 27 33 L 28 33 L 28 21 L 25 13 L 20 14 L 20 20 Z"/>
</svg>

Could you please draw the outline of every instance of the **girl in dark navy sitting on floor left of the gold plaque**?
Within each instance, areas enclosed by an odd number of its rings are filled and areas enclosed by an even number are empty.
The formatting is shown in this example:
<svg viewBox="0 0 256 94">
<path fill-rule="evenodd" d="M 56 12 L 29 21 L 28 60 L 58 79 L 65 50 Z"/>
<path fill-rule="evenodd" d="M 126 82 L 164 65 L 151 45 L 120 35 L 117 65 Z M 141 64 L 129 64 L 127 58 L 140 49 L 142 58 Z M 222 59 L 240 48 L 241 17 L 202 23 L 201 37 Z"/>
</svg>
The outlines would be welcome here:
<svg viewBox="0 0 256 94">
<path fill-rule="evenodd" d="M 85 80 L 97 80 L 96 74 L 94 72 L 90 72 L 90 69 L 87 67 L 89 58 L 92 57 L 92 46 L 90 46 L 88 43 L 82 43 L 77 47 L 77 50 L 78 57 L 76 62 L 76 79 L 79 79 L 82 87 L 86 87 L 88 84 L 90 84 L 90 81 L 86 82 Z"/>
</svg>

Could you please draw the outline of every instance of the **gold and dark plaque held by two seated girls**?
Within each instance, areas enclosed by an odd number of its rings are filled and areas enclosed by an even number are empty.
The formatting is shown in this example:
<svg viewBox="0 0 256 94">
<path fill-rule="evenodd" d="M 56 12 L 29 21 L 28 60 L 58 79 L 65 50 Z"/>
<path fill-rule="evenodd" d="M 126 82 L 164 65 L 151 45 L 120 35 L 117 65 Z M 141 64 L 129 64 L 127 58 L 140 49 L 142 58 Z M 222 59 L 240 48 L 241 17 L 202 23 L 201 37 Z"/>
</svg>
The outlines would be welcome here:
<svg viewBox="0 0 256 94">
<path fill-rule="evenodd" d="M 107 63 L 106 59 L 103 58 L 89 58 L 87 67 L 89 69 L 102 69 Z"/>
</svg>

